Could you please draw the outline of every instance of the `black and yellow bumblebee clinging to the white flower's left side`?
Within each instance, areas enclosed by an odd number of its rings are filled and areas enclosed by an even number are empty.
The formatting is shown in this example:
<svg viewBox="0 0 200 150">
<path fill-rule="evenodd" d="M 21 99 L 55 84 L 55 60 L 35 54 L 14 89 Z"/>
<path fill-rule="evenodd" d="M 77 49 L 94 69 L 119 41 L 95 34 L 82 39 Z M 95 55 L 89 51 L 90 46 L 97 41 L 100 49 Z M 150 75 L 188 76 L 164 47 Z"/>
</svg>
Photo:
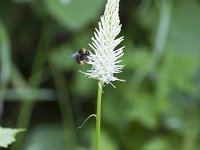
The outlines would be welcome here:
<svg viewBox="0 0 200 150">
<path fill-rule="evenodd" d="M 89 60 L 88 59 L 89 55 L 90 55 L 89 50 L 87 50 L 85 48 L 81 48 L 76 53 L 72 54 L 71 57 L 73 57 L 78 64 L 83 65 L 83 64 L 87 63 L 87 61 Z"/>
</svg>

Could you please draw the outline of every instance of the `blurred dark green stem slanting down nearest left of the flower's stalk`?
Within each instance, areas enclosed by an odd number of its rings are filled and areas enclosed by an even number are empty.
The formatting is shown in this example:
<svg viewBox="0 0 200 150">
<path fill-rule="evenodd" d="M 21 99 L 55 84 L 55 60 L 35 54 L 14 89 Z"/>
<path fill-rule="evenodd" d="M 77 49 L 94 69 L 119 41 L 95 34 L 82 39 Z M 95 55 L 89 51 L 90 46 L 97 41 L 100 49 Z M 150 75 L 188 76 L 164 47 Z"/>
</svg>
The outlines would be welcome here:
<svg viewBox="0 0 200 150">
<path fill-rule="evenodd" d="M 70 97 L 69 93 L 67 91 L 67 84 L 65 82 L 65 78 L 63 75 L 63 72 L 56 68 L 52 62 L 49 62 L 50 69 L 53 75 L 55 87 L 57 89 L 58 93 L 58 103 L 60 105 L 61 110 L 61 117 L 63 121 L 63 127 L 64 127 L 64 136 L 65 136 L 65 146 L 71 147 L 74 149 L 74 147 L 77 145 L 77 136 L 75 132 L 75 120 L 72 110 L 72 104 L 70 103 Z M 71 131 L 69 133 L 69 131 Z M 68 142 L 69 134 L 71 136 L 71 139 L 73 139 L 70 143 Z"/>
</svg>

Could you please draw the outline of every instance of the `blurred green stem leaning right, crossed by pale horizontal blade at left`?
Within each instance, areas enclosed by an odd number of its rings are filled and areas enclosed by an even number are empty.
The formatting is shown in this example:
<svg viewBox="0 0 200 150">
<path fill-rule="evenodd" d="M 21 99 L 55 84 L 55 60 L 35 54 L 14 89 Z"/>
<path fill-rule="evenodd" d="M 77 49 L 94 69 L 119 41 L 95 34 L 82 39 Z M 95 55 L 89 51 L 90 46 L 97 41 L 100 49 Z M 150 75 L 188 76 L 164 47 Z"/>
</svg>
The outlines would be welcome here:
<svg viewBox="0 0 200 150">
<path fill-rule="evenodd" d="M 48 50 L 49 43 L 51 40 L 51 38 L 50 38 L 51 32 L 50 31 L 51 31 L 51 26 L 47 26 L 46 22 L 44 22 L 44 28 L 41 33 L 41 37 L 39 39 L 37 53 L 36 53 L 33 67 L 31 70 L 31 77 L 28 79 L 28 81 L 26 83 L 27 84 L 26 86 L 31 87 L 32 89 L 37 89 L 39 87 L 41 79 L 42 79 L 43 70 L 38 72 L 36 76 L 32 76 L 32 75 L 35 75 L 37 70 L 44 68 L 44 64 L 47 61 L 46 60 L 47 59 L 47 50 Z M 20 75 L 20 74 L 18 73 L 18 75 Z M 20 76 L 22 79 L 22 75 L 20 75 Z M 23 83 L 25 83 L 25 79 L 23 79 Z M 32 109 L 35 104 L 34 100 L 35 100 L 35 96 L 22 100 L 21 109 L 20 109 L 18 120 L 16 123 L 17 128 L 28 128 L 30 120 L 31 120 Z M 23 143 L 25 140 L 25 136 L 26 136 L 25 134 L 26 133 L 21 134 L 21 136 L 18 138 L 18 142 L 16 144 L 12 145 L 11 150 L 21 150 L 22 149 Z"/>
</svg>

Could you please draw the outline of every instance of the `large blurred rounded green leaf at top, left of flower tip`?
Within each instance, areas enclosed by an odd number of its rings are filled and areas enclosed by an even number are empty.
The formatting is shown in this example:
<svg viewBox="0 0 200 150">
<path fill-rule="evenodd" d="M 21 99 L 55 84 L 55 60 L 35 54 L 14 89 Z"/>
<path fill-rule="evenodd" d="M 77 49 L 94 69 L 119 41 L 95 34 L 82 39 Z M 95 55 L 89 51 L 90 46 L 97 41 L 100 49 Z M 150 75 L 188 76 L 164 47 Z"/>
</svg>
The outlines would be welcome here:
<svg viewBox="0 0 200 150">
<path fill-rule="evenodd" d="M 80 29 L 100 15 L 104 0 L 44 0 L 48 13 L 64 27 Z"/>
</svg>

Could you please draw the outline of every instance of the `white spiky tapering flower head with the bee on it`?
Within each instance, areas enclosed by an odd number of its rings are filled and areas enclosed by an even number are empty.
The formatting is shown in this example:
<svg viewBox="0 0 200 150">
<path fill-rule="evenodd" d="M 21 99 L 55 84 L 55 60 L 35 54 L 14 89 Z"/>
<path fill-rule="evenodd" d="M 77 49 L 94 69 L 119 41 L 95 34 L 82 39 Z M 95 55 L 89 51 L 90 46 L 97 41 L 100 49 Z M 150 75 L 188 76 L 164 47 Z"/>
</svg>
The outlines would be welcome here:
<svg viewBox="0 0 200 150">
<path fill-rule="evenodd" d="M 94 37 L 91 38 L 92 44 L 89 44 L 93 51 L 90 51 L 88 64 L 91 64 L 92 68 L 84 74 L 89 78 L 113 85 L 112 81 L 124 81 L 114 76 L 114 74 L 122 72 L 124 67 L 119 64 L 122 61 L 119 58 L 124 55 L 124 47 L 115 49 L 124 38 L 116 38 L 121 31 L 119 0 L 107 0 L 104 15 L 98 25 L 99 29 L 95 29 Z"/>
</svg>

